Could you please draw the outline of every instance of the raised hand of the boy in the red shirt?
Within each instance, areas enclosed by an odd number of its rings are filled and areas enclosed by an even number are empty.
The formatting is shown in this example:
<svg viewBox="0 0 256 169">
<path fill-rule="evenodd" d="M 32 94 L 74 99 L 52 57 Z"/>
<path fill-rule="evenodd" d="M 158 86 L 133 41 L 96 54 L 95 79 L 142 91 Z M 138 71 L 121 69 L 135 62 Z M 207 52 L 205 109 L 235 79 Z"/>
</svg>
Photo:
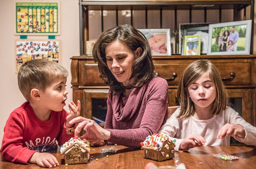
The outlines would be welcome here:
<svg viewBox="0 0 256 169">
<path fill-rule="evenodd" d="M 72 120 L 75 117 L 78 117 L 80 115 L 81 111 L 81 102 L 80 100 L 77 100 L 77 106 L 73 101 L 69 102 L 69 112 L 68 116 L 66 118 L 66 127 L 72 128 L 74 125 L 69 124 L 69 121 Z"/>
</svg>

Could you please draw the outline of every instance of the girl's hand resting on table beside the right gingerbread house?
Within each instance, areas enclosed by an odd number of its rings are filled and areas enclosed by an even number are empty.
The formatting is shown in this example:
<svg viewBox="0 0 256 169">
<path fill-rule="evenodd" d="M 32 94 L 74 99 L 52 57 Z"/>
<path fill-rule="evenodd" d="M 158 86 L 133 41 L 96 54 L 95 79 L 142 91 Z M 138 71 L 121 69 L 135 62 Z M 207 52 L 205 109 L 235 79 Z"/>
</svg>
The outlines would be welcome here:
<svg viewBox="0 0 256 169">
<path fill-rule="evenodd" d="M 202 136 L 190 134 L 181 142 L 179 149 L 188 150 L 193 147 L 203 146 L 205 142 L 206 141 Z"/>
</svg>

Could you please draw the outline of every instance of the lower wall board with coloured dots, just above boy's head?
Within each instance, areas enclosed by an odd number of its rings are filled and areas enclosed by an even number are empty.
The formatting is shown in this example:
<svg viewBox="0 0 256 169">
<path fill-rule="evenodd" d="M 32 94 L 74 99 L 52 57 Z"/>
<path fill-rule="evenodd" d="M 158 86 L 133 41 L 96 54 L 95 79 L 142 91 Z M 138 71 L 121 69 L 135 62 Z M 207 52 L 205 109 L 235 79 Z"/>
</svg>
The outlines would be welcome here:
<svg viewBox="0 0 256 169">
<path fill-rule="evenodd" d="M 16 40 L 16 73 L 23 63 L 32 59 L 45 59 L 59 63 L 59 41 Z"/>
</svg>

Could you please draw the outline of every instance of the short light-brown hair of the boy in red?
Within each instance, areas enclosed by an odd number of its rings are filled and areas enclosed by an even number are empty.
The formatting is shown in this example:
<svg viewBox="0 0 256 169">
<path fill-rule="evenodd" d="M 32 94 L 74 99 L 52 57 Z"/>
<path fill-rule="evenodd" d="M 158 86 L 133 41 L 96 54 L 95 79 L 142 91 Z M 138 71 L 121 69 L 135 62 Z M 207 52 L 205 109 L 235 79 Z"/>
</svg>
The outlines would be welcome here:
<svg viewBox="0 0 256 169">
<path fill-rule="evenodd" d="M 19 69 L 18 86 L 23 96 L 29 101 L 32 89 L 43 92 L 50 86 L 54 79 L 67 78 L 68 71 L 60 64 L 42 59 L 25 62 Z"/>
</svg>

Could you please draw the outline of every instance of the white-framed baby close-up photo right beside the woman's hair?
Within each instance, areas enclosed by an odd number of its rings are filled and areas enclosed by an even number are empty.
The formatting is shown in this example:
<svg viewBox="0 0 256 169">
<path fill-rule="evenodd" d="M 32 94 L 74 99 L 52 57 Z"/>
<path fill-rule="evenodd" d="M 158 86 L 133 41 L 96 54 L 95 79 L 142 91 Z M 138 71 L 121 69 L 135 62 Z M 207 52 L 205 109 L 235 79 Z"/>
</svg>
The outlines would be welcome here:
<svg viewBox="0 0 256 169">
<path fill-rule="evenodd" d="M 150 43 L 153 56 L 171 55 L 170 29 L 138 29 Z"/>
</svg>

